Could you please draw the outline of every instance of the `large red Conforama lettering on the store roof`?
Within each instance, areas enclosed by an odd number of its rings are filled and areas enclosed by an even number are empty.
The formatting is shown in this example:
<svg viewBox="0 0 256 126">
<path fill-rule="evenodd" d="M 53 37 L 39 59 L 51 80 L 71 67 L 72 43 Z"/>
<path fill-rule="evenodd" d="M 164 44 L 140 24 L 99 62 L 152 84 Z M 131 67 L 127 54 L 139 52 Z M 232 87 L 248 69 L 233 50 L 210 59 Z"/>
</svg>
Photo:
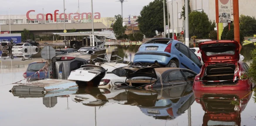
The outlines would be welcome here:
<svg viewBox="0 0 256 126">
<path fill-rule="evenodd" d="M 54 11 L 54 22 L 56 22 L 56 20 L 57 20 L 57 12 L 58 12 L 59 10 L 55 10 Z M 30 19 L 29 18 L 29 14 L 30 14 L 30 12 L 35 12 L 35 10 L 29 10 L 28 12 L 27 12 L 27 14 L 26 14 L 26 16 L 27 16 L 27 19 L 28 20 L 34 20 L 34 19 Z M 42 16 L 42 18 L 39 18 L 39 15 L 41 15 Z M 60 20 L 64 20 L 63 18 L 62 18 L 62 15 L 64 15 L 64 13 L 60 13 L 60 15 L 59 15 L 59 18 L 60 18 Z M 67 16 L 68 16 L 68 20 L 71 20 L 71 15 L 75 15 L 73 18 L 74 18 L 74 20 L 83 20 L 84 19 L 84 16 L 86 16 L 86 19 L 88 20 L 89 19 L 89 15 L 91 15 L 91 13 L 69 13 L 69 14 L 66 14 L 65 13 L 65 19 L 67 19 Z M 45 19 L 45 16 L 46 16 L 46 19 Z M 49 20 L 49 17 L 50 17 L 50 20 L 53 20 L 53 15 L 51 14 L 51 13 L 47 13 L 46 15 L 43 15 L 42 13 L 39 13 L 39 14 L 37 14 L 36 15 L 36 19 L 38 20 L 38 21 L 42 21 L 42 20 Z M 81 17 L 81 19 L 80 19 L 80 17 Z M 94 16 L 94 19 L 100 19 L 101 18 L 101 14 L 99 13 L 99 12 L 96 12 L 95 13 L 95 16 Z"/>
</svg>

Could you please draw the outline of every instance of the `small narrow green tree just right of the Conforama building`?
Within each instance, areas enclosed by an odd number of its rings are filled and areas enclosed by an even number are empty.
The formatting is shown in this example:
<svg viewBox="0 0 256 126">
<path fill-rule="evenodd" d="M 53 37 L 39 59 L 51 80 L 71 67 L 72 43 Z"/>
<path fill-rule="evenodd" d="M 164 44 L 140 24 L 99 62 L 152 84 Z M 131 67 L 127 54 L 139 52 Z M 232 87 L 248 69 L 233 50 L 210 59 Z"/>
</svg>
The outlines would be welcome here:
<svg viewBox="0 0 256 126">
<path fill-rule="evenodd" d="M 127 26 L 123 26 L 123 17 L 122 15 L 115 15 L 116 22 L 111 25 L 114 33 L 117 36 L 122 36 L 127 28 Z"/>
</svg>

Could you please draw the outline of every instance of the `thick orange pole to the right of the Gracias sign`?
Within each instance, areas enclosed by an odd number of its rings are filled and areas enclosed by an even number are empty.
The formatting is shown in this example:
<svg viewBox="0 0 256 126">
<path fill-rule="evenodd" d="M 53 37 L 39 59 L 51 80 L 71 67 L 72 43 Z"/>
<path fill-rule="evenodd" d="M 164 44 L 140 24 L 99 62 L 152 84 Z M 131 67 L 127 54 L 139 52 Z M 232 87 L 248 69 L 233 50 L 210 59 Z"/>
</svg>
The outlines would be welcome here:
<svg viewBox="0 0 256 126">
<path fill-rule="evenodd" d="M 239 3 L 238 0 L 233 0 L 233 15 L 234 15 L 234 40 L 240 43 L 239 31 Z M 240 48 L 241 50 L 241 48 Z"/>
</svg>

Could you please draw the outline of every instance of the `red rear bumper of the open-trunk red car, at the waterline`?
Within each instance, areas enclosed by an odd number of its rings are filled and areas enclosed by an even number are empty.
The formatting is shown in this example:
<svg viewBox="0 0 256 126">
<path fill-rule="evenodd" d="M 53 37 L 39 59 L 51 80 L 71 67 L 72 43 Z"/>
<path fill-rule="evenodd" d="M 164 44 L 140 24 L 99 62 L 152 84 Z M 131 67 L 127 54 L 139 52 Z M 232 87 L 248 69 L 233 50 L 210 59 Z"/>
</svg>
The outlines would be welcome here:
<svg viewBox="0 0 256 126">
<path fill-rule="evenodd" d="M 235 85 L 204 85 L 202 81 L 194 81 L 193 90 L 251 90 L 249 79 L 239 80 Z"/>
</svg>

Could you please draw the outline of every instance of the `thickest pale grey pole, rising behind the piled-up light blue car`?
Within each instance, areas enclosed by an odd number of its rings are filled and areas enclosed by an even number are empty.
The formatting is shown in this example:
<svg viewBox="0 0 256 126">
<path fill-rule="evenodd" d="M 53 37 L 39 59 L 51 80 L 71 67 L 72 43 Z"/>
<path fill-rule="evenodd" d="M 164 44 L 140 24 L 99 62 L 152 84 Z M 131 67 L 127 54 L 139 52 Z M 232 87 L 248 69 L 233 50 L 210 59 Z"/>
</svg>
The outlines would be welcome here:
<svg viewBox="0 0 256 126">
<path fill-rule="evenodd" d="M 189 47 L 189 0 L 185 0 L 185 44 Z"/>
</svg>

